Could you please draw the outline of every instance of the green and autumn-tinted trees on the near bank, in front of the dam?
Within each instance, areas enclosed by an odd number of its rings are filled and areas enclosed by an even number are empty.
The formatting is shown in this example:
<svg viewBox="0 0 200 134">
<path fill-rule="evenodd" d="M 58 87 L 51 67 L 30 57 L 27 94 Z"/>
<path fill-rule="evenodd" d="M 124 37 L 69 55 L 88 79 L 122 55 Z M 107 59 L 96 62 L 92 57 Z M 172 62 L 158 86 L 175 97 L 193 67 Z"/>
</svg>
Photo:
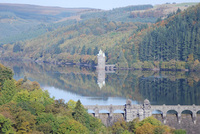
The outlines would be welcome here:
<svg viewBox="0 0 200 134">
<path fill-rule="evenodd" d="M 119 121 L 106 128 L 92 117 L 80 101 L 54 100 L 37 82 L 15 81 L 10 69 L 0 64 L 0 133 L 176 133 L 178 130 L 162 125 L 153 117 L 143 121 Z M 185 131 L 184 131 L 185 132 Z"/>
</svg>

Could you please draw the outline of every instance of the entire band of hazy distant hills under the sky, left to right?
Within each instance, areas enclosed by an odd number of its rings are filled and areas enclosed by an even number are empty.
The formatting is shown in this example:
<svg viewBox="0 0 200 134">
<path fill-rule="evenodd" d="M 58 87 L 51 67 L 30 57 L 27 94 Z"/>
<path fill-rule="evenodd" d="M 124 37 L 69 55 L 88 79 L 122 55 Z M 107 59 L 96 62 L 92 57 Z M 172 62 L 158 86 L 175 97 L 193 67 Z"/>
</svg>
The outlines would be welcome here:
<svg viewBox="0 0 200 134">
<path fill-rule="evenodd" d="M 76 21 L 94 18 L 115 22 L 154 23 L 157 18 L 165 17 L 167 14 L 176 11 L 177 8 L 186 9 L 194 4 L 137 5 L 108 11 L 91 8 L 0 4 L 0 44 L 33 39 Z"/>
</svg>

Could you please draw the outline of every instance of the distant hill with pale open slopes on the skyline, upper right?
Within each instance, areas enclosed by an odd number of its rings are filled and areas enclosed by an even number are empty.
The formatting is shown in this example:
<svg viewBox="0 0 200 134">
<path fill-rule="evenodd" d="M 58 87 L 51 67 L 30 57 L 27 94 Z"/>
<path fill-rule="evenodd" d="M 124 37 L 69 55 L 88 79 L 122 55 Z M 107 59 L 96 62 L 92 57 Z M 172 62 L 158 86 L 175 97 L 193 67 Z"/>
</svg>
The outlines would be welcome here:
<svg viewBox="0 0 200 134">
<path fill-rule="evenodd" d="M 196 4 L 132 5 L 108 11 L 85 13 L 81 15 L 81 19 L 107 18 L 109 21 L 154 23 L 158 18 L 164 18 L 168 14 L 176 12 L 177 9 L 185 10 L 189 6 Z"/>
</svg>

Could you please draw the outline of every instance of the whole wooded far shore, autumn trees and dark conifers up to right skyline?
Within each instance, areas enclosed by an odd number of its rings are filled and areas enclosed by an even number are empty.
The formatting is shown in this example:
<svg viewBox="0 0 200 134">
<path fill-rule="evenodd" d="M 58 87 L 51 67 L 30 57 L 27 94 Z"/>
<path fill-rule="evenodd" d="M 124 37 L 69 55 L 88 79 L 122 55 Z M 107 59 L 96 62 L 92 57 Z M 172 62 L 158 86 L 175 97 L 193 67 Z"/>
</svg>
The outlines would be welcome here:
<svg viewBox="0 0 200 134">
<path fill-rule="evenodd" d="M 181 11 L 188 5 L 130 6 L 88 15 L 83 12 L 81 21 L 68 20 L 40 25 L 38 30 L 30 30 L 30 33 L 34 31 L 36 35 L 42 34 L 41 36 L 2 44 L 1 58 L 95 65 L 96 54 L 102 49 L 107 57 L 106 62 L 115 64 L 117 68 L 200 70 L 199 5 Z M 176 7 L 173 10 L 177 11 L 167 16 L 159 15 L 160 12 L 171 9 L 170 7 Z M 157 22 L 136 23 L 112 19 L 117 16 L 120 18 L 128 12 L 129 18 L 154 17 Z"/>
</svg>

